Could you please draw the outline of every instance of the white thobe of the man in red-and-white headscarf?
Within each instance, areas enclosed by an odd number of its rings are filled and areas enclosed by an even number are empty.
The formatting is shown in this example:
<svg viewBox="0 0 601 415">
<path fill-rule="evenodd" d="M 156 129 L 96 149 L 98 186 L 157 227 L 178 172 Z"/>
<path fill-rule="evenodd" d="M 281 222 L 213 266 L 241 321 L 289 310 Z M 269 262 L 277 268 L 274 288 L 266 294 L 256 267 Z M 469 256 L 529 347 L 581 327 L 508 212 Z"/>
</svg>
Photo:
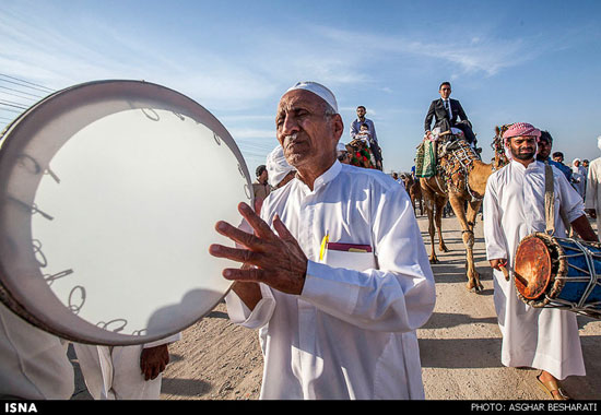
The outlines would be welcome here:
<svg viewBox="0 0 601 415">
<path fill-rule="evenodd" d="M 584 214 L 582 199 L 553 167 L 555 236 L 565 237 L 559 205 L 569 222 Z M 519 242 L 546 227 L 544 210 L 544 164 L 526 168 L 512 161 L 495 171 L 484 193 L 484 238 L 488 260 L 507 259 L 514 269 Z M 516 293 L 512 282 L 494 271 L 494 301 L 503 333 L 502 363 L 509 367 L 546 370 L 557 379 L 585 376 L 576 313 L 551 308 L 532 308 Z"/>
</svg>

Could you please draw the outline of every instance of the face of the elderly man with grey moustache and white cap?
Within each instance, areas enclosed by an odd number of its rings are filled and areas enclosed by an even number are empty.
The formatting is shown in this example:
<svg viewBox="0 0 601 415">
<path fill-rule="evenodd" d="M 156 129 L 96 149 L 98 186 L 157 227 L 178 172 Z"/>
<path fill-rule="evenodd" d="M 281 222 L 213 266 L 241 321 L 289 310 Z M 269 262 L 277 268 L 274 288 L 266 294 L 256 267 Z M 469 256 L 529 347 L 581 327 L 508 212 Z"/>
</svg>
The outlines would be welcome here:
<svg viewBox="0 0 601 415">
<path fill-rule="evenodd" d="M 278 141 L 291 166 L 318 167 L 334 161 L 342 135 L 340 116 L 326 116 L 326 103 L 305 90 L 286 93 L 275 116 Z"/>
</svg>

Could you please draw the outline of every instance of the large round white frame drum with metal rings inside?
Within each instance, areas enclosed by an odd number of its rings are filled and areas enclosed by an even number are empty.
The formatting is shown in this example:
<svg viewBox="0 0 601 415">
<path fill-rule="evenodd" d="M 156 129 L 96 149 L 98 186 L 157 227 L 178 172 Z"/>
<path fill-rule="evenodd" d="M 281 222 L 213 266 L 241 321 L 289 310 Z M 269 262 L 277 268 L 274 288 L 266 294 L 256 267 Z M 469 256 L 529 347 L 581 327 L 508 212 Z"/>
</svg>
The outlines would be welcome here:
<svg viewBox="0 0 601 415">
<path fill-rule="evenodd" d="M 138 81 L 60 91 L 4 131 L 0 300 L 60 337 L 152 342 L 209 313 L 219 220 L 252 204 L 245 161 L 192 99 Z"/>
</svg>

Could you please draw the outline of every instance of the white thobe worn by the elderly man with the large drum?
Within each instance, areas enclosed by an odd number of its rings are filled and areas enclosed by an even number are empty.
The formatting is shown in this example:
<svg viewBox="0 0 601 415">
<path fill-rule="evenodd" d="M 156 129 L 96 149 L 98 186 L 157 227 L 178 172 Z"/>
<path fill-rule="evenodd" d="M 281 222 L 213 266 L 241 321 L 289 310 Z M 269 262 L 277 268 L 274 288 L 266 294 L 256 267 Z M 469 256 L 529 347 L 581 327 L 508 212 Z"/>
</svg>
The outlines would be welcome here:
<svg viewBox="0 0 601 415">
<path fill-rule="evenodd" d="M 261 217 L 271 225 L 275 214 L 308 258 L 302 294 L 261 285 L 252 312 L 233 292 L 226 297 L 234 322 L 261 329 L 260 398 L 424 399 L 415 329 L 434 309 L 435 287 L 404 188 L 337 161 L 313 191 L 294 179 L 271 193 Z"/>
</svg>

